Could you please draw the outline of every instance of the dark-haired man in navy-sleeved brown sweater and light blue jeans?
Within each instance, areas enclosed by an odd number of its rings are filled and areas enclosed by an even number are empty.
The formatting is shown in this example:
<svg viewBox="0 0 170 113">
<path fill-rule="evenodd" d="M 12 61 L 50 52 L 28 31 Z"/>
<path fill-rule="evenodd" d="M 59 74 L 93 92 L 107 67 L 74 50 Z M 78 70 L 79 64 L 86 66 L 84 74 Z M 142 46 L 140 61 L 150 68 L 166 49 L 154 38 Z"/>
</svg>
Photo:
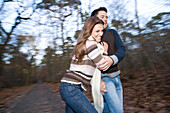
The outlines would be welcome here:
<svg viewBox="0 0 170 113">
<path fill-rule="evenodd" d="M 108 44 L 109 56 L 105 56 L 105 61 L 99 64 L 99 69 L 103 70 L 102 79 L 106 84 L 105 90 L 104 86 L 102 89 L 104 83 L 101 83 L 101 91 L 105 92 L 106 101 L 104 112 L 108 108 L 109 113 L 123 113 L 123 89 L 119 78 L 118 63 L 125 57 L 126 48 L 116 30 L 106 29 L 107 9 L 105 7 L 95 9 L 91 16 L 97 16 L 103 20 L 105 30 L 102 41 Z"/>
</svg>

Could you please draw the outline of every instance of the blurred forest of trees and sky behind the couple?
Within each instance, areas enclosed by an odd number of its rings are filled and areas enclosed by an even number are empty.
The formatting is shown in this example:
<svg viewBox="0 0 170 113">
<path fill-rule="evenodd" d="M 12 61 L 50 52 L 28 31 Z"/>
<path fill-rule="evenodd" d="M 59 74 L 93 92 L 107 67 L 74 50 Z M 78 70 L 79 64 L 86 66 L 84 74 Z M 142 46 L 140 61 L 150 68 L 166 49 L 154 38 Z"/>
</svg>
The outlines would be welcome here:
<svg viewBox="0 0 170 113">
<path fill-rule="evenodd" d="M 87 11 L 82 2 L 1 1 L 0 90 L 38 82 L 60 82 L 69 68 L 71 53 L 85 20 L 94 7 L 99 7 L 88 2 Z M 138 0 L 134 0 L 134 7 L 131 7 L 134 12 L 128 12 L 126 5 L 129 2 L 110 0 L 105 6 L 109 11 L 109 27 L 119 32 L 127 49 L 126 57 L 120 62 L 125 92 L 133 90 L 133 94 L 134 90 L 145 89 L 136 95 L 145 98 L 145 101 L 149 101 L 154 93 L 161 92 L 154 98 L 163 98 L 163 101 L 155 106 L 167 110 L 167 103 L 170 103 L 167 100 L 170 85 L 170 12 L 159 12 L 149 20 L 138 14 Z M 170 6 L 169 0 L 159 3 L 167 8 Z M 134 99 L 133 95 L 129 100 L 140 103 L 141 100 Z"/>
</svg>

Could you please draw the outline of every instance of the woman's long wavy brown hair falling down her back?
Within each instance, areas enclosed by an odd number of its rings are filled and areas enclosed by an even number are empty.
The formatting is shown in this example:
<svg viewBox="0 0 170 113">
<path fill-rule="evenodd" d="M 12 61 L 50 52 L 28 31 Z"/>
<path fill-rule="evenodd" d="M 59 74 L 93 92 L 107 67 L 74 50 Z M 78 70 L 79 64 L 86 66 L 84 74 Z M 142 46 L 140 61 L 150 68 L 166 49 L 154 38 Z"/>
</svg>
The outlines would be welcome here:
<svg viewBox="0 0 170 113">
<path fill-rule="evenodd" d="M 77 59 L 76 61 L 78 62 L 82 61 L 86 52 L 86 47 L 85 47 L 86 41 L 91 36 L 93 28 L 96 24 L 104 25 L 103 21 L 96 16 L 89 17 L 86 20 L 83 29 L 80 33 L 80 36 L 78 38 L 77 44 L 75 45 L 73 50 L 73 55 L 75 55 L 75 58 Z"/>
</svg>

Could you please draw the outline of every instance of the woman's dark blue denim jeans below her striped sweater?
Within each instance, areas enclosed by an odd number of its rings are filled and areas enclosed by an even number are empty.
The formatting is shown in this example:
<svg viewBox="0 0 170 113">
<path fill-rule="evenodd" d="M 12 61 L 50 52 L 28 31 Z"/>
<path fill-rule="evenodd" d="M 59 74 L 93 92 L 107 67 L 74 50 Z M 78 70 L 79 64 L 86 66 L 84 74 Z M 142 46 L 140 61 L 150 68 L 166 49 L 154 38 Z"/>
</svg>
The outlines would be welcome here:
<svg viewBox="0 0 170 113">
<path fill-rule="evenodd" d="M 62 82 L 60 95 L 66 103 L 66 113 L 97 113 L 83 89 L 76 84 Z"/>
</svg>

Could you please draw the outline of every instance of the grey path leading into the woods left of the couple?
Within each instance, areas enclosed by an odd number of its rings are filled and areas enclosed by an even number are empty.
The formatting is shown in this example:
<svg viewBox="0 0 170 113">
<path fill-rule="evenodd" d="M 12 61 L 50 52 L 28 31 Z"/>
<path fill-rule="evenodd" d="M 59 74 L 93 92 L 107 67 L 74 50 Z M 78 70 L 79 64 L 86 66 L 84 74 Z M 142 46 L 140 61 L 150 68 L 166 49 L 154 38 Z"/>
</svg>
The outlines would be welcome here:
<svg viewBox="0 0 170 113">
<path fill-rule="evenodd" d="M 14 102 L 6 113 L 65 113 L 64 102 L 45 84 L 33 87 L 22 98 Z"/>
</svg>

